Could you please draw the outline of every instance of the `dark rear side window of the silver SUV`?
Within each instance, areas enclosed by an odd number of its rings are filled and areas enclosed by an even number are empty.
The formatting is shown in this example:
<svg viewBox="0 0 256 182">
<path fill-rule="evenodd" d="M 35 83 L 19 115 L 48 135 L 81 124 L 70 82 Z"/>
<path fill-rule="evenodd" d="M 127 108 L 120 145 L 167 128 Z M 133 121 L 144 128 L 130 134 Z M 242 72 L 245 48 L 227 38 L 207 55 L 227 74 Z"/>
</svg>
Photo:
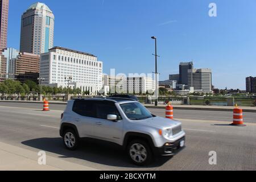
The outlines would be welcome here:
<svg viewBox="0 0 256 182">
<path fill-rule="evenodd" d="M 73 111 L 86 117 L 95 117 L 95 109 L 92 101 L 76 100 L 73 104 Z"/>
</svg>

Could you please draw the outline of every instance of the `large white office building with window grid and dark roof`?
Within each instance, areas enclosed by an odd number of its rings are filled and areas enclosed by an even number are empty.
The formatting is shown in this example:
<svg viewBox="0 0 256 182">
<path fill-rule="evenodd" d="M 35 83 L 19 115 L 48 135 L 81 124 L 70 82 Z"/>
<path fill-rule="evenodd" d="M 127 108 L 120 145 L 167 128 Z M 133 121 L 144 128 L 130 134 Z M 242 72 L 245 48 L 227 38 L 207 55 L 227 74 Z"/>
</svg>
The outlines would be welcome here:
<svg viewBox="0 0 256 182">
<path fill-rule="evenodd" d="M 40 78 L 44 78 L 44 85 L 69 85 L 97 94 L 103 86 L 102 68 L 103 63 L 96 56 L 72 49 L 53 47 L 40 55 Z"/>
</svg>

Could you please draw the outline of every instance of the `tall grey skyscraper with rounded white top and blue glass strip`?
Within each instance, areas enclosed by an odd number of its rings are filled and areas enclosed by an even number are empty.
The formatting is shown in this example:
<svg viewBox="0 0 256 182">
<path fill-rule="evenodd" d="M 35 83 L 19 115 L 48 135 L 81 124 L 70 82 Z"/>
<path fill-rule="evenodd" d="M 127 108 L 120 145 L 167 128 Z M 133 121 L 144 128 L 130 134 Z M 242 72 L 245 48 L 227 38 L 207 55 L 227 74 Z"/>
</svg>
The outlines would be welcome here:
<svg viewBox="0 0 256 182">
<path fill-rule="evenodd" d="M 40 54 L 53 47 L 54 15 L 44 3 L 31 5 L 22 15 L 20 52 Z"/>
</svg>

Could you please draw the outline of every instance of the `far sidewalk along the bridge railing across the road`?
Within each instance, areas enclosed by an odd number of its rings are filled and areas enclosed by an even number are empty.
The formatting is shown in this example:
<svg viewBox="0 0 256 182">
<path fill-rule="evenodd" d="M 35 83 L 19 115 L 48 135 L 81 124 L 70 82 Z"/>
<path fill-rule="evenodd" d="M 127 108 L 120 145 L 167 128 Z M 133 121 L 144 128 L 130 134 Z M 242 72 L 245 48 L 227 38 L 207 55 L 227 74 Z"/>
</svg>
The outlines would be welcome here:
<svg viewBox="0 0 256 182">
<path fill-rule="evenodd" d="M 42 104 L 43 102 L 40 101 L 1 101 L 0 102 L 18 102 L 18 103 L 37 103 Z M 63 101 L 49 101 L 49 104 L 59 104 L 59 105 L 66 105 L 67 102 Z M 147 108 L 151 109 L 165 109 L 166 105 L 160 104 L 155 106 L 154 104 L 144 104 Z M 204 106 L 204 105 L 173 105 L 174 109 L 180 110 L 210 110 L 210 111 L 233 111 L 233 106 Z M 243 112 L 246 113 L 256 113 L 256 107 L 250 106 L 239 106 L 243 109 Z"/>
</svg>

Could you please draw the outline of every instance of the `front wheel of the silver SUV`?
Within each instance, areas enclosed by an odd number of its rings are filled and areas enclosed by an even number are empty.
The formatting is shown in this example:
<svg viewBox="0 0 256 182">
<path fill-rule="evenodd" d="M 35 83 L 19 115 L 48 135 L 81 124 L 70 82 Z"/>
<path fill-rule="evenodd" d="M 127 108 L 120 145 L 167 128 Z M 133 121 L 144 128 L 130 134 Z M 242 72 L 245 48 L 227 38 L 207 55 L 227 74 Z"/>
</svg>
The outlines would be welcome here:
<svg viewBox="0 0 256 182">
<path fill-rule="evenodd" d="M 131 150 L 132 150 L 137 144 L 143 146 L 143 150 L 146 150 L 146 159 L 145 159 L 145 157 L 143 158 L 143 156 L 144 156 L 144 155 L 143 155 L 143 152 L 142 152 L 141 154 L 138 154 L 138 155 L 136 155 L 136 154 L 133 155 L 133 156 L 136 156 L 137 161 L 133 159 L 132 153 L 135 153 L 135 152 L 132 152 Z M 138 149 L 138 151 L 139 151 L 139 148 L 137 148 L 137 149 Z M 129 145 L 127 146 L 127 149 L 126 149 L 126 150 L 127 150 L 127 155 L 129 156 L 129 159 L 131 160 L 131 162 L 133 162 L 133 163 L 136 164 L 137 166 L 145 166 L 145 165 L 149 164 L 149 163 L 151 162 L 151 160 L 152 160 L 152 156 L 153 156 L 153 155 L 152 155 L 151 148 L 150 148 L 150 146 L 148 145 L 148 143 L 147 143 L 146 141 L 142 140 L 142 139 L 132 140 L 132 141 L 129 143 Z M 141 159 L 142 159 L 141 162 L 138 162 L 139 156 L 141 156 Z"/>
</svg>

